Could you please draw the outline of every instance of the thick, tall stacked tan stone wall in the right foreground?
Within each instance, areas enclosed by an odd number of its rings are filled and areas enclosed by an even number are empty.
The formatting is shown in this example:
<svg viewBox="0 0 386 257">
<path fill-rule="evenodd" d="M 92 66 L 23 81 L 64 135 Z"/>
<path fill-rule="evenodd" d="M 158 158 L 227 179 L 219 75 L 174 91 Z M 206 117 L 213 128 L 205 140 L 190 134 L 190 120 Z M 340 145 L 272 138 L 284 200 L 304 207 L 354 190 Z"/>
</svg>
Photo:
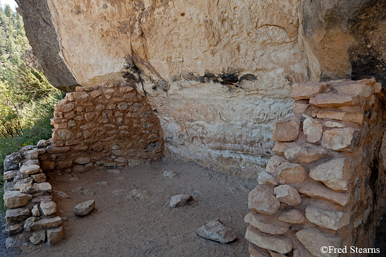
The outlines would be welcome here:
<svg viewBox="0 0 386 257">
<path fill-rule="evenodd" d="M 292 90 L 295 114 L 273 124 L 275 155 L 249 194 L 250 255 L 358 256 L 355 247 L 374 246 L 386 198 L 381 85 L 340 80 Z"/>
</svg>

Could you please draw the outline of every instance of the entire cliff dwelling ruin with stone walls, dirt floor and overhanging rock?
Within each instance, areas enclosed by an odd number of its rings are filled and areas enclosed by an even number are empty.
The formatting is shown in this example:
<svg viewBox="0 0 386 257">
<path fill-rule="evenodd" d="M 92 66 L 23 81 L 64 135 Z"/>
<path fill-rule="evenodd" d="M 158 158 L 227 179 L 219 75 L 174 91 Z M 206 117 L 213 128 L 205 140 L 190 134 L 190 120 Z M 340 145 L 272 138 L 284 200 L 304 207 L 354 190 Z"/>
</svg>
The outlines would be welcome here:
<svg viewBox="0 0 386 257">
<path fill-rule="evenodd" d="M 47 79 L 67 94 L 52 138 L 6 159 L 10 245 L 47 242 L 54 247 L 26 251 L 63 256 L 71 235 L 87 249 L 94 238 L 86 251 L 75 244 L 81 256 L 379 249 L 386 2 L 16 2 Z M 171 188 L 193 200 L 169 207 Z M 75 200 L 91 199 L 91 215 L 68 216 Z M 216 218 L 235 229 L 235 242 L 196 235 Z M 87 229 L 94 225 L 119 244 L 103 243 Z M 188 235 L 158 233 L 172 226 Z"/>
</svg>

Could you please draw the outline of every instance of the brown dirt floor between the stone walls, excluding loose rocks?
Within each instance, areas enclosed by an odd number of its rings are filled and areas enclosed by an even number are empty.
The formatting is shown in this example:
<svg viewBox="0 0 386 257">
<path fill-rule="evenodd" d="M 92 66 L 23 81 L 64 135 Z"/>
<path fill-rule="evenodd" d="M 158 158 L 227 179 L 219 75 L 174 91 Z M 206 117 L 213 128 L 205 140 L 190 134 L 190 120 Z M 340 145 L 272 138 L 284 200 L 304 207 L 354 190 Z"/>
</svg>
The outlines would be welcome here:
<svg viewBox="0 0 386 257">
<path fill-rule="evenodd" d="M 165 177 L 166 170 L 178 176 Z M 51 248 L 22 246 L 19 256 L 248 256 L 243 219 L 256 181 L 177 161 L 153 162 L 117 174 L 52 173 L 48 181 L 52 189 L 70 196 L 54 193 L 60 216 L 66 219 L 65 241 Z M 101 181 L 109 185 L 101 186 Z M 78 192 L 80 188 L 86 191 Z M 169 199 L 177 194 L 191 194 L 194 201 L 170 208 Z M 90 199 L 95 199 L 95 209 L 87 216 L 74 216 L 74 207 Z M 221 244 L 197 234 L 200 226 L 216 218 L 236 231 L 235 242 Z"/>
</svg>

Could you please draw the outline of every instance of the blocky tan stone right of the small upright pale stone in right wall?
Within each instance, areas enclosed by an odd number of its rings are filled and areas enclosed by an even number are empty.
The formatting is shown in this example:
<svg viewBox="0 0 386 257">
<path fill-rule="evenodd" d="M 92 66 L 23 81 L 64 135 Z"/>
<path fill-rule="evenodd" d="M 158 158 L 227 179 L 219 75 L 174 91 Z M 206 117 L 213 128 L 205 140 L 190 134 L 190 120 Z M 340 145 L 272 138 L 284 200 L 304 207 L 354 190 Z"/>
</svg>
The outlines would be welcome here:
<svg viewBox="0 0 386 257">
<path fill-rule="evenodd" d="M 322 146 L 334 151 L 353 152 L 360 137 L 360 132 L 353 127 L 336 128 L 323 133 Z"/>
</svg>

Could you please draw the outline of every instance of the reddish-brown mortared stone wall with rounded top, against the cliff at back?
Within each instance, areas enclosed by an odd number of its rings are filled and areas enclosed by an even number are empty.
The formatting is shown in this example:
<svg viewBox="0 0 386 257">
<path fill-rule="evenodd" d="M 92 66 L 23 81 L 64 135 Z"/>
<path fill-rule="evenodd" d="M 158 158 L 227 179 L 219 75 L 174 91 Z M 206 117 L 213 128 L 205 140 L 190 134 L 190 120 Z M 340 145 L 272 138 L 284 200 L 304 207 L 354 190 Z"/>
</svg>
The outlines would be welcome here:
<svg viewBox="0 0 386 257">
<path fill-rule="evenodd" d="M 160 121 L 127 84 L 76 87 L 55 106 L 51 124 L 43 170 L 113 169 L 163 156 Z"/>
</svg>

